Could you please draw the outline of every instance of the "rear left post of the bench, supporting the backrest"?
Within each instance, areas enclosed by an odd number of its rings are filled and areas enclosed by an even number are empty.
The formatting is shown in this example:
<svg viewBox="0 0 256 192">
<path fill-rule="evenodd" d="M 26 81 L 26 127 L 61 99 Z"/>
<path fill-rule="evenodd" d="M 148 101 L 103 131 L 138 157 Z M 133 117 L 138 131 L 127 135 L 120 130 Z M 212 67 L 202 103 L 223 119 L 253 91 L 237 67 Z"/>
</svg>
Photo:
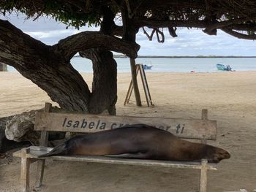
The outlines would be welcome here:
<svg viewBox="0 0 256 192">
<path fill-rule="evenodd" d="M 45 103 L 45 112 L 50 112 L 52 104 Z M 41 131 L 41 137 L 39 141 L 39 145 L 43 147 L 47 147 L 48 145 L 48 131 Z M 45 169 L 45 159 L 39 159 L 37 161 L 37 174 L 36 174 L 36 183 L 35 187 L 39 188 L 42 185 L 42 178 L 44 176 Z"/>
</svg>

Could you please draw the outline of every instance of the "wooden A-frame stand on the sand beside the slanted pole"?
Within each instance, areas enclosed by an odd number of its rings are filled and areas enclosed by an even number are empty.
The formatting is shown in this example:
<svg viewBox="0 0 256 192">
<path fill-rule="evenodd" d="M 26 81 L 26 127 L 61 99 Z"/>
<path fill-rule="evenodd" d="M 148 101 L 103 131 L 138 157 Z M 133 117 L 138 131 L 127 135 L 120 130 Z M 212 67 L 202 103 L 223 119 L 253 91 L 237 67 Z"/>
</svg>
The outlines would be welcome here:
<svg viewBox="0 0 256 192">
<path fill-rule="evenodd" d="M 142 64 L 136 64 L 136 76 L 138 76 L 138 72 L 140 72 L 140 77 L 141 77 L 141 81 L 143 84 L 143 89 L 144 89 L 144 93 L 146 96 L 146 102 L 148 104 L 148 107 L 150 105 L 154 106 L 154 104 L 152 103 L 151 95 L 150 95 L 149 88 L 148 88 L 148 82 L 146 79 L 146 74 L 145 74 Z M 129 103 L 129 100 L 132 95 L 132 90 L 133 90 L 133 84 L 132 84 L 132 80 L 131 80 L 131 82 L 129 83 L 129 88 L 128 88 L 127 96 L 124 101 L 124 105 Z"/>
</svg>

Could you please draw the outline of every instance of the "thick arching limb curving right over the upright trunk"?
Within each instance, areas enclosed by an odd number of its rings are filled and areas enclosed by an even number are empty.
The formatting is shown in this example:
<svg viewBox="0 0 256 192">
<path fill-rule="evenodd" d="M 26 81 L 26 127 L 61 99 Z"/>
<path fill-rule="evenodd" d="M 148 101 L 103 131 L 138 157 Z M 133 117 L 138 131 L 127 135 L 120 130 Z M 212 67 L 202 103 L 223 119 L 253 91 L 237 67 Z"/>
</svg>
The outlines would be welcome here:
<svg viewBox="0 0 256 192">
<path fill-rule="evenodd" d="M 53 49 L 61 51 L 66 59 L 72 58 L 80 50 L 102 47 L 106 50 L 113 50 L 124 53 L 129 58 L 136 58 L 140 45 L 130 43 L 117 37 L 102 34 L 97 31 L 85 31 L 72 35 L 66 39 L 61 39 L 58 44 L 53 45 Z"/>
</svg>

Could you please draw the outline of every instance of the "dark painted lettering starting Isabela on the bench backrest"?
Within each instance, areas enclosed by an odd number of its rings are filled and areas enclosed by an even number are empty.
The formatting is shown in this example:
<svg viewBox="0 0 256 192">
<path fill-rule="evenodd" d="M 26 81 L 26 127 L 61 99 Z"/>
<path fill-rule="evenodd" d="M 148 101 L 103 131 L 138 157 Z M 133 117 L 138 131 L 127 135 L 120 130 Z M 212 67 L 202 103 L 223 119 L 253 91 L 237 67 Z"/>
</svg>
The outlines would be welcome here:
<svg viewBox="0 0 256 192">
<path fill-rule="evenodd" d="M 122 126 L 129 126 L 128 123 L 110 123 L 105 122 L 105 120 L 86 120 L 83 118 L 82 120 L 69 120 L 67 118 L 64 118 L 64 121 L 62 123 L 63 128 L 89 128 L 89 129 L 99 129 L 99 130 L 105 130 L 105 129 L 113 129 L 113 128 L 119 128 Z M 183 134 L 185 124 L 178 124 L 176 126 L 157 126 L 157 128 L 169 131 L 170 129 L 174 129 L 176 131 L 176 134 Z"/>
</svg>

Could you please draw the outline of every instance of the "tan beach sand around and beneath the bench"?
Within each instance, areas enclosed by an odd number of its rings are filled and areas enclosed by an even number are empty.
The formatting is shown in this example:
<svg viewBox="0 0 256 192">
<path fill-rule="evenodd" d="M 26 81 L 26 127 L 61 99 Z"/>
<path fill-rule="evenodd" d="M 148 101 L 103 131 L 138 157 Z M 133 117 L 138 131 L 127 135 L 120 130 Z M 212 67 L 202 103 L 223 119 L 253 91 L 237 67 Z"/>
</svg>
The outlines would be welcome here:
<svg viewBox="0 0 256 192">
<path fill-rule="evenodd" d="M 130 74 L 118 74 L 118 115 L 217 120 L 217 142 L 231 158 L 208 171 L 208 191 L 256 191 L 256 72 L 147 73 L 154 107 L 124 107 Z M 91 74 L 83 74 L 91 85 Z M 143 90 L 140 84 L 142 100 Z M 132 97 L 132 100 L 135 100 Z M 18 73 L 0 73 L 0 117 L 36 110 L 48 95 Z M 0 161 L 1 162 L 1 161 Z M 35 166 L 31 166 L 31 186 Z M 199 171 L 53 161 L 41 191 L 198 191 Z M 20 159 L 0 165 L 0 191 L 18 191 Z"/>
</svg>

